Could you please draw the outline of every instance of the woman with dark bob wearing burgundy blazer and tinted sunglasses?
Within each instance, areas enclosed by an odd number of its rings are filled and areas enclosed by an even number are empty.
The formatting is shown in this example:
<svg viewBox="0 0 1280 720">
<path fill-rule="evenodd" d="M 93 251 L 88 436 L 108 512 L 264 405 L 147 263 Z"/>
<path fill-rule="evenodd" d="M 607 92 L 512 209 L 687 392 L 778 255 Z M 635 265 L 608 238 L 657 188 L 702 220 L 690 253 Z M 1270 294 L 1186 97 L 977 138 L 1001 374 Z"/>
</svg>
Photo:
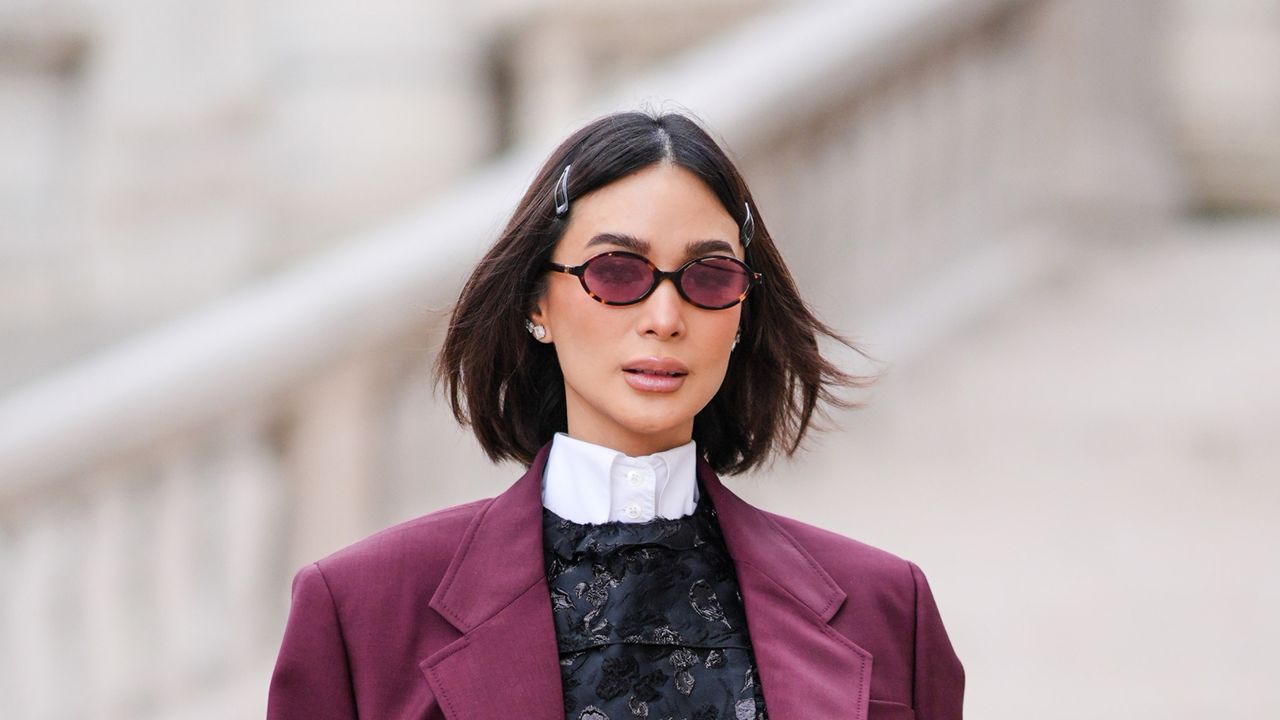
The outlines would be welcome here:
<svg viewBox="0 0 1280 720">
<path fill-rule="evenodd" d="M 268 716 L 957 720 L 920 570 L 717 477 L 790 455 L 856 384 L 819 334 L 694 122 L 575 133 L 438 365 L 486 454 L 529 470 L 301 570 Z"/>
</svg>

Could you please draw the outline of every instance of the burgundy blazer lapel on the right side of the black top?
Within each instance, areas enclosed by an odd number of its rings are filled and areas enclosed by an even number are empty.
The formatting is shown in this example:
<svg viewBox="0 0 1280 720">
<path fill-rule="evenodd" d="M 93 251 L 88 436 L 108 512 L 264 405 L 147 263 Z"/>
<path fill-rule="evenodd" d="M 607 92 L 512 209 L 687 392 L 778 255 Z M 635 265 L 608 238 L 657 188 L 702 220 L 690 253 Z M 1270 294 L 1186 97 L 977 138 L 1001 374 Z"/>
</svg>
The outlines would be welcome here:
<svg viewBox="0 0 1280 720">
<path fill-rule="evenodd" d="M 867 720 L 872 656 L 828 621 L 845 592 L 768 514 L 728 491 L 707 462 L 710 496 L 737 569 L 746 625 L 772 720 Z"/>
</svg>

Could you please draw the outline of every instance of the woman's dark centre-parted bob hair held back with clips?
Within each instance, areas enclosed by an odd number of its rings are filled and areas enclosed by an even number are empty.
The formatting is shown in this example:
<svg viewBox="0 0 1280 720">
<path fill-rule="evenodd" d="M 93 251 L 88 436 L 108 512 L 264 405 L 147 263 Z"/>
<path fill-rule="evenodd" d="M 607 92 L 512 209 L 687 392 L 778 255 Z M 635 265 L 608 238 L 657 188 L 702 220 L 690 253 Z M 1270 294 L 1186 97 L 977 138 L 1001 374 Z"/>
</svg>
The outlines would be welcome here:
<svg viewBox="0 0 1280 720">
<path fill-rule="evenodd" d="M 818 336 L 852 347 L 819 322 L 796 291 L 746 182 L 714 140 L 690 118 L 618 113 L 561 143 L 543 164 L 498 241 L 462 287 L 436 360 L 462 425 L 494 461 L 532 462 L 567 428 L 564 377 L 554 345 L 530 338 L 525 322 L 547 288 L 547 263 L 572 217 L 556 214 L 556 183 L 572 164 L 568 199 L 657 163 L 703 179 L 739 227 L 751 208 L 755 232 L 746 264 L 764 282 L 742 304 L 741 341 L 724 382 L 694 418 L 694 441 L 717 473 L 742 473 L 774 451 L 792 455 L 818 402 L 854 405 L 835 389 L 869 378 L 846 374 L 822 356 Z M 856 348 L 854 348 L 856 350 Z"/>
</svg>

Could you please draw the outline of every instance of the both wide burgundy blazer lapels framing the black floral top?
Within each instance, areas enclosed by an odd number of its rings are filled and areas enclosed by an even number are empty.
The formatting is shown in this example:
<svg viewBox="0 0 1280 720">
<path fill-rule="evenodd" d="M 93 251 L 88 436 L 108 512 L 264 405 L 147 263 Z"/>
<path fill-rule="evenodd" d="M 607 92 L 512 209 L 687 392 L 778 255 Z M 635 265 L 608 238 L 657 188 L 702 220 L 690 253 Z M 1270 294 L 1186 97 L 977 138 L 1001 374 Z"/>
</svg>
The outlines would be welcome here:
<svg viewBox="0 0 1280 720">
<path fill-rule="evenodd" d="M 550 446 L 467 528 L 430 606 L 462 633 L 420 662 L 451 720 L 564 717 L 543 565 L 541 477 Z M 773 720 L 865 720 L 872 659 L 827 623 L 845 592 L 764 511 L 698 475 L 724 533 Z"/>
</svg>

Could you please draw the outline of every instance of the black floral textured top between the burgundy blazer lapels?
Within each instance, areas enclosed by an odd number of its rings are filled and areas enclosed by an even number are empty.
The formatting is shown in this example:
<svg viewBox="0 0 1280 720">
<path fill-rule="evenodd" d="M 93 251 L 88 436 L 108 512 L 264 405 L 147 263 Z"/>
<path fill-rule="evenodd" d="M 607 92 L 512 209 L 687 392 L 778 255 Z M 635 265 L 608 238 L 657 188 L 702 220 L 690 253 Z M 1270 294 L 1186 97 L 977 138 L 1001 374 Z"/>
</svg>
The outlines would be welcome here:
<svg viewBox="0 0 1280 720">
<path fill-rule="evenodd" d="M 543 509 L 564 717 L 768 720 L 733 562 L 691 515 L 579 524 Z"/>
</svg>

